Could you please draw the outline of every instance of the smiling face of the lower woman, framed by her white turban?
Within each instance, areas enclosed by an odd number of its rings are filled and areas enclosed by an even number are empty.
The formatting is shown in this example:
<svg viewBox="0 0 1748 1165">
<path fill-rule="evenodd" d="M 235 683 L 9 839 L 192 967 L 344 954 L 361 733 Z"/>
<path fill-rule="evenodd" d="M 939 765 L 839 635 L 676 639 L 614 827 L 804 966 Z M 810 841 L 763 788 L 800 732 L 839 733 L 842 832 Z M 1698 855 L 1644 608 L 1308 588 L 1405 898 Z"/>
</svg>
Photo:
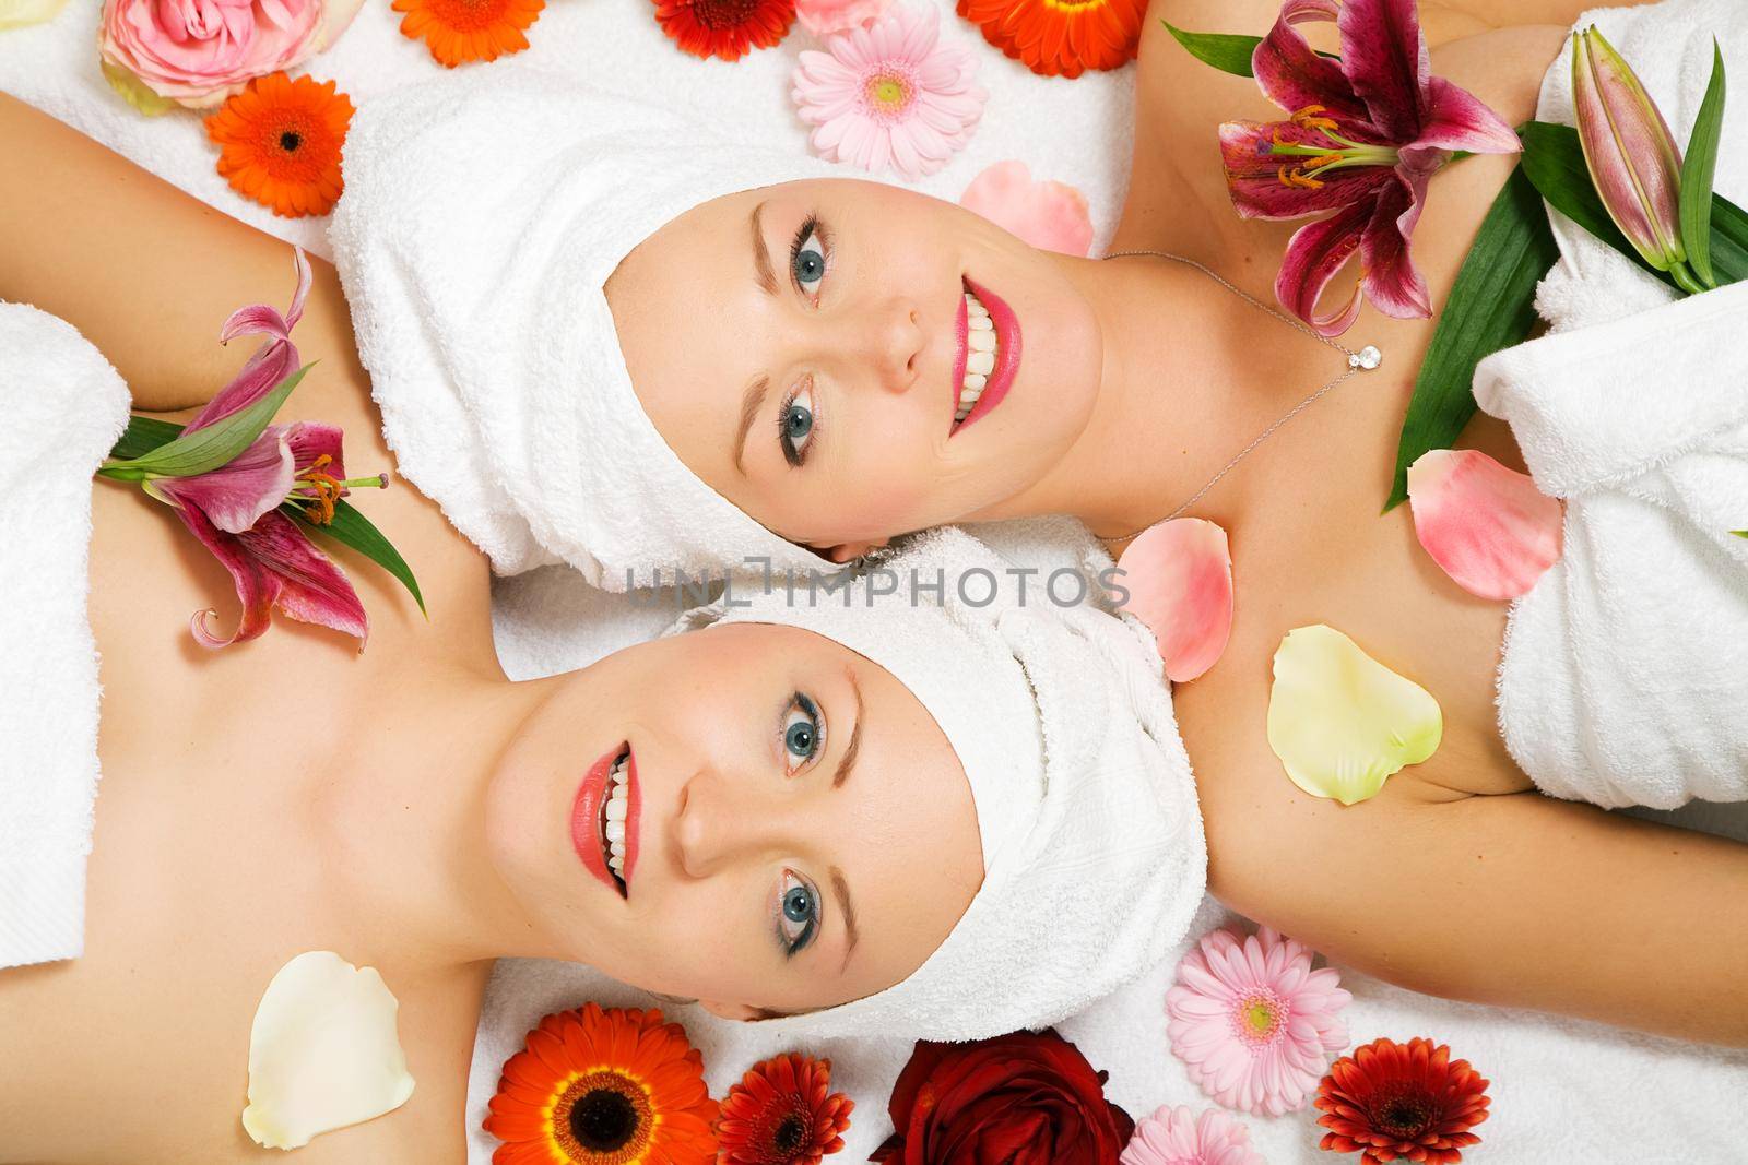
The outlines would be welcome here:
<svg viewBox="0 0 1748 1165">
<path fill-rule="evenodd" d="M 862 655 L 766 624 L 565 679 L 500 762 L 486 828 L 552 950 L 731 1017 L 904 980 L 982 880 L 970 784 L 928 711 Z"/>
</svg>

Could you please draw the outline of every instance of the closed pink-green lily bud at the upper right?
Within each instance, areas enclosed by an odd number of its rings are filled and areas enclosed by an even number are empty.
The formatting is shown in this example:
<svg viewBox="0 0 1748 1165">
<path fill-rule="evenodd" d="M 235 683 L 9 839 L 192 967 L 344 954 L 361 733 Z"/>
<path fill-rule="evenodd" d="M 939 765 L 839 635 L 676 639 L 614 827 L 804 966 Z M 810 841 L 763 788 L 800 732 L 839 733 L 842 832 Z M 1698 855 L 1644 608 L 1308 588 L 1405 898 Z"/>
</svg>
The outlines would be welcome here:
<svg viewBox="0 0 1748 1165">
<path fill-rule="evenodd" d="M 1682 152 L 1638 75 L 1594 26 L 1571 35 L 1571 103 L 1608 217 L 1652 267 L 1678 283 L 1692 278 L 1682 246 Z"/>
</svg>

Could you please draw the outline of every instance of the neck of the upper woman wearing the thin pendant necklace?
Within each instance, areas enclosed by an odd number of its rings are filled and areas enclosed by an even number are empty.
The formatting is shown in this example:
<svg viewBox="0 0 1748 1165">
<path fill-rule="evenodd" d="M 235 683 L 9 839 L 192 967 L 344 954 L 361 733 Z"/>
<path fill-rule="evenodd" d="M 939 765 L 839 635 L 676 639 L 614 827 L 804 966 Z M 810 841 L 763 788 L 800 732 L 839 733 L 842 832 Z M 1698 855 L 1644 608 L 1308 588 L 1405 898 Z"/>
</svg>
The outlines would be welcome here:
<svg viewBox="0 0 1748 1165">
<path fill-rule="evenodd" d="M 1023 512 L 1072 514 L 1101 538 L 1124 538 L 1183 505 L 1297 400 L 1304 377 L 1274 370 L 1283 358 L 1311 367 L 1314 341 L 1169 259 L 1068 269 L 1098 313 L 1103 376 L 1087 426 L 1023 496 Z M 1196 514 L 1229 526 L 1243 501 L 1234 477 Z"/>
</svg>

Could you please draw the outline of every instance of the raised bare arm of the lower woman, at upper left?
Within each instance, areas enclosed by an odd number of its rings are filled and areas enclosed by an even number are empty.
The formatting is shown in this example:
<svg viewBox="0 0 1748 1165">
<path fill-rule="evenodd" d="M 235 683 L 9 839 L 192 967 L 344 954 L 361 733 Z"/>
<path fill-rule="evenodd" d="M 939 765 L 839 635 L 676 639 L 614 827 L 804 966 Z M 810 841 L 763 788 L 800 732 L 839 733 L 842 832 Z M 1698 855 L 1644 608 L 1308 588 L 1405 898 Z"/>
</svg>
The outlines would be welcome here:
<svg viewBox="0 0 1748 1165">
<path fill-rule="evenodd" d="M 77 327 L 136 409 L 205 402 L 253 349 L 220 348 L 218 323 L 290 297 L 283 243 L 3 93 L 0 154 L 0 299 Z"/>
</svg>

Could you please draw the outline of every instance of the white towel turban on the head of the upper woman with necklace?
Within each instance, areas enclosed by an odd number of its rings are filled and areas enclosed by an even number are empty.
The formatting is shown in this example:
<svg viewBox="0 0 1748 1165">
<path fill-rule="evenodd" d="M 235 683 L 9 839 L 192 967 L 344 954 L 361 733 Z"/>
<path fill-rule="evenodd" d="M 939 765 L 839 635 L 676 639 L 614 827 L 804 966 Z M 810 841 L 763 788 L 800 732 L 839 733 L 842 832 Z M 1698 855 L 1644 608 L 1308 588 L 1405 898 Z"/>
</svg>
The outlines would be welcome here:
<svg viewBox="0 0 1748 1165">
<path fill-rule="evenodd" d="M 330 238 L 400 472 L 505 575 L 565 561 L 612 590 L 769 557 L 834 569 L 668 447 L 603 285 L 713 197 L 829 176 L 799 150 L 517 65 L 365 101 Z"/>
</svg>

